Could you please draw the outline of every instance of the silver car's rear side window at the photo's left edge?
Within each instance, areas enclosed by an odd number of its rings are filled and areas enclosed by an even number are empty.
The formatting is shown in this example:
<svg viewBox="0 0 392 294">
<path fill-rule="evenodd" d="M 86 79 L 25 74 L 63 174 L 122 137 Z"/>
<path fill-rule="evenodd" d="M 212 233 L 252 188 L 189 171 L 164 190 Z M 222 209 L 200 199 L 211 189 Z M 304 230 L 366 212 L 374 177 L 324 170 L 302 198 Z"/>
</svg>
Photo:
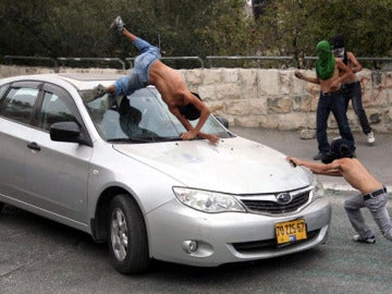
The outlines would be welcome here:
<svg viewBox="0 0 392 294">
<path fill-rule="evenodd" d="M 2 101 L 0 114 L 28 124 L 33 115 L 37 96 L 38 89 L 36 88 L 11 88 L 4 97 L 4 101 Z"/>
</svg>

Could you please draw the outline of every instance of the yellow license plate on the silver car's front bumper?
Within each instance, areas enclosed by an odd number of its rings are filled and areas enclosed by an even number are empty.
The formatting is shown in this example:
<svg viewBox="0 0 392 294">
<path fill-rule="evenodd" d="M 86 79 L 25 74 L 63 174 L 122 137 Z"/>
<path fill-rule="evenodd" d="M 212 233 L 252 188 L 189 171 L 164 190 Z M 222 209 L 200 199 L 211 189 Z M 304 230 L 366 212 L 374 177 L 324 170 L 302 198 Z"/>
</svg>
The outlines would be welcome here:
<svg viewBox="0 0 392 294">
<path fill-rule="evenodd" d="M 304 219 L 275 223 L 278 244 L 293 243 L 307 238 Z"/>
</svg>

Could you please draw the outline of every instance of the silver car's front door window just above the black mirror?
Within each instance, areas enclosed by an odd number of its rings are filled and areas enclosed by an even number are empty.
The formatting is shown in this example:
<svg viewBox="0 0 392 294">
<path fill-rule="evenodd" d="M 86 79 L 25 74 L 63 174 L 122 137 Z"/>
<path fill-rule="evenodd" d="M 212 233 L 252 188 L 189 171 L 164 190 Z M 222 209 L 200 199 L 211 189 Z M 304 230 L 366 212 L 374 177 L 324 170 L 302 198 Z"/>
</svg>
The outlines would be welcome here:
<svg viewBox="0 0 392 294">
<path fill-rule="evenodd" d="M 72 111 L 63 99 L 52 93 L 46 91 L 39 113 L 38 126 L 49 131 L 50 125 L 57 122 L 76 122 Z"/>
</svg>

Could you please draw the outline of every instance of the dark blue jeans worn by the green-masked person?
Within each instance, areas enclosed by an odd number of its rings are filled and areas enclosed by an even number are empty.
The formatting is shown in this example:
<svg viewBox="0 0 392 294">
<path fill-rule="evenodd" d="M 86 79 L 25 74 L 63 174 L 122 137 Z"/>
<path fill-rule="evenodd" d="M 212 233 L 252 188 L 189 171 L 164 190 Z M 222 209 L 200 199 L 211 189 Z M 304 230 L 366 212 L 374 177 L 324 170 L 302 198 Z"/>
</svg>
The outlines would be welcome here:
<svg viewBox="0 0 392 294">
<path fill-rule="evenodd" d="M 316 118 L 316 137 L 318 142 L 318 149 L 321 154 L 330 152 L 330 144 L 327 136 L 328 118 L 333 113 L 336 120 L 339 132 L 341 137 L 346 140 L 348 148 L 355 150 L 354 136 L 351 132 L 347 115 L 345 112 L 345 100 L 341 93 L 332 95 L 322 95 L 320 93 L 320 99 L 317 106 Z"/>
</svg>

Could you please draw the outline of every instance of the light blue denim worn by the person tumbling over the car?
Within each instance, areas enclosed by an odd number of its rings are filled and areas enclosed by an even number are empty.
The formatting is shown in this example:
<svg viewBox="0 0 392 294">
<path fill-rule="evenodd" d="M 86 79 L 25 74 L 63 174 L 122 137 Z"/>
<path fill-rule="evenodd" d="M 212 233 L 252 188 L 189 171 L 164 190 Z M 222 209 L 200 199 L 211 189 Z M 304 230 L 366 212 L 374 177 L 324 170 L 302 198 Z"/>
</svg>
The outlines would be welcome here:
<svg viewBox="0 0 392 294">
<path fill-rule="evenodd" d="M 149 70 L 156 60 L 161 58 L 159 49 L 147 41 L 137 38 L 133 42 L 140 51 L 135 59 L 135 66 L 130 75 L 120 77 L 114 82 L 114 95 L 131 95 L 135 90 L 145 88 L 149 84 Z"/>
</svg>

